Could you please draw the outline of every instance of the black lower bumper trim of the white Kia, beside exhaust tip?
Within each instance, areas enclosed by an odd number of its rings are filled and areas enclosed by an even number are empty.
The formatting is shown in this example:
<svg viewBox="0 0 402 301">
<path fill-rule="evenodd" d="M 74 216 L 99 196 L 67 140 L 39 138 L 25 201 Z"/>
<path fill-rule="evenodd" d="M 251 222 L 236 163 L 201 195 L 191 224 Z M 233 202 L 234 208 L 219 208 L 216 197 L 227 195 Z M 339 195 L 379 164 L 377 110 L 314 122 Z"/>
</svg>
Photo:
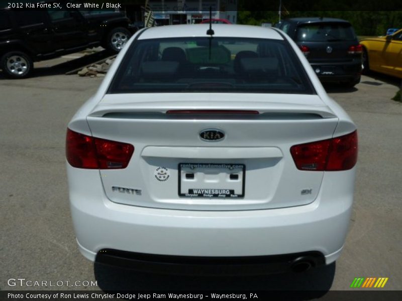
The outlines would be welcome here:
<svg viewBox="0 0 402 301">
<path fill-rule="evenodd" d="M 97 253 L 96 262 L 158 274 L 255 275 L 290 272 L 292 268 L 302 271 L 305 268 L 322 266 L 325 265 L 325 257 L 320 252 L 271 256 L 202 257 L 154 255 L 105 249 Z"/>
</svg>

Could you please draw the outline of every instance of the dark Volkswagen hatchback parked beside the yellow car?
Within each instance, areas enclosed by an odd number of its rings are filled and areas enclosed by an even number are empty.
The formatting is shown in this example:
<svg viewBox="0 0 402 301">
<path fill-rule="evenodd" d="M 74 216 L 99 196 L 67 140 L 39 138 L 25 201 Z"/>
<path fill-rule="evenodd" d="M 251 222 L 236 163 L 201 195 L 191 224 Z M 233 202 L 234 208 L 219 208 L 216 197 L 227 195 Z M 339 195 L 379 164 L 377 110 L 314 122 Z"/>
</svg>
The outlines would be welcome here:
<svg viewBox="0 0 402 301">
<path fill-rule="evenodd" d="M 322 82 L 360 82 L 362 46 L 352 25 L 332 18 L 293 18 L 275 25 L 305 54 Z"/>
</svg>

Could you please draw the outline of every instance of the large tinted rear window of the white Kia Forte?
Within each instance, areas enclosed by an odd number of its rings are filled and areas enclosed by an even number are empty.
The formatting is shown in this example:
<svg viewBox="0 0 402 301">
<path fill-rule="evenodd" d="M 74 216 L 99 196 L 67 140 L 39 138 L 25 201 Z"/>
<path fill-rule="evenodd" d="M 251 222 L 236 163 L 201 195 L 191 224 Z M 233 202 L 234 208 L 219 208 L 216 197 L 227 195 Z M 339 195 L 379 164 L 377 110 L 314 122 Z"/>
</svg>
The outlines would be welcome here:
<svg viewBox="0 0 402 301">
<path fill-rule="evenodd" d="M 138 40 L 109 93 L 248 92 L 313 94 L 284 41 L 249 38 Z"/>
</svg>

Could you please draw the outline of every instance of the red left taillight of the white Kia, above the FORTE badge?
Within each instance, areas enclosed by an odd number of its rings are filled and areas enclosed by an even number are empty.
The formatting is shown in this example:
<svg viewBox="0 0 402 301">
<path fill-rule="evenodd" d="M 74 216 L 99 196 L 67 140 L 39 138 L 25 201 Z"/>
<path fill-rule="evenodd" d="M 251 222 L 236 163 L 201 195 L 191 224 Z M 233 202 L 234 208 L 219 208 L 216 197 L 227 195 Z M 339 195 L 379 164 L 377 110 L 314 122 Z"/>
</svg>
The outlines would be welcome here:
<svg viewBox="0 0 402 301">
<path fill-rule="evenodd" d="M 82 169 L 123 169 L 134 153 L 129 143 L 96 138 L 67 128 L 66 158 Z"/>
</svg>

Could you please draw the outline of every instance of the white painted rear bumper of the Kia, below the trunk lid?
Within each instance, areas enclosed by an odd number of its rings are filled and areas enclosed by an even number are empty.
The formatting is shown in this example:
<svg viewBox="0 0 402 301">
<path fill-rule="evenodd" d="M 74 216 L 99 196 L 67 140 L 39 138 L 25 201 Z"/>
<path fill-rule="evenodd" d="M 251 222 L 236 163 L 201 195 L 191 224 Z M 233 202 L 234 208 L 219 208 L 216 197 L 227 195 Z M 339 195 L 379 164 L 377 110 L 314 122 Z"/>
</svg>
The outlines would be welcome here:
<svg viewBox="0 0 402 301">
<path fill-rule="evenodd" d="M 67 171 L 77 241 L 81 253 L 92 261 L 105 249 L 148 254 L 148 258 L 167 255 L 210 259 L 283 254 L 293 254 L 293 258 L 295 253 L 315 251 L 324 255 L 326 264 L 338 258 L 345 242 L 355 174 L 355 168 L 325 173 L 317 199 L 304 206 L 184 211 L 113 203 L 104 194 L 98 171 L 77 173 L 69 166 Z M 272 258 L 266 259 L 271 262 Z M 280 268 L 286 269 L 283 266 Z"/>
</svg>

